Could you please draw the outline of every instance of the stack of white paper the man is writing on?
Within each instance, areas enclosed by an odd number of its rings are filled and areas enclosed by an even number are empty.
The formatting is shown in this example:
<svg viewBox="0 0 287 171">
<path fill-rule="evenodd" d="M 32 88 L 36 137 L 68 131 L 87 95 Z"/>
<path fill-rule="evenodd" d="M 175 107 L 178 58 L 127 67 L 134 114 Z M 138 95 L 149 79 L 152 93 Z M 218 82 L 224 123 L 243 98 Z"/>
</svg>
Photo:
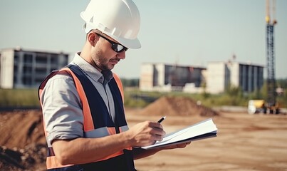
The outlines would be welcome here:
<svg viewBox="0 0 287 171">
<path fill-rule="evenodd" d="M 165 135 L 162 141 L 155 142 L 154 145 L 142 147 L 143 149 L 151 149 L 155 147 L 164 147 L 172 144 L 180 144 L 194 140 L 216 137 L 217 128 L 214 125 L 212 118 L 204 120 L 195 125 L 191 125 L 182 130 L 177 130 L 174 133 Z"/>
</svg>

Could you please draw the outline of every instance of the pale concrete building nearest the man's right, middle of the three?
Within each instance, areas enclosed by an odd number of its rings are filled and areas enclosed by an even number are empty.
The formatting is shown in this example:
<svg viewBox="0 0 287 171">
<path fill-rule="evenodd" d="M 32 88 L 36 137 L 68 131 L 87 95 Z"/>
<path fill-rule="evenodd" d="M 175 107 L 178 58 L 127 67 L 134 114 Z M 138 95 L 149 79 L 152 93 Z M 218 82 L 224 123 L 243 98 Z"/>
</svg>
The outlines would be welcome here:
<svg viewBox="0 0 287 171">
<path fill-rule="evenodd" d="M 199 88 L 206 68 L 177 66 L 165 63 L 143 63 L 140 71 L 140 90 L 171 91 Z"/>
</svg>

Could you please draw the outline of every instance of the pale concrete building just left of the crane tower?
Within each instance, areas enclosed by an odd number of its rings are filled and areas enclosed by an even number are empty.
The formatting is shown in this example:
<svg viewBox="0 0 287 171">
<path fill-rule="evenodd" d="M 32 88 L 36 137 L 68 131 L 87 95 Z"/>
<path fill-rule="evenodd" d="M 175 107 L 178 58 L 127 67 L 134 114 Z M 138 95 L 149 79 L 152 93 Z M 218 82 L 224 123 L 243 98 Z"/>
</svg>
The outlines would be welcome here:
<svg viewBox="0 0 287 171">
<path fill-rule="evenodd" d="M 228 86 L 240 87 L 250 93 L 263 86 L 263 66 L 251 63 L 209 62 L 207 64 L 207 92 L 222 93 Z"/>
</svg>

